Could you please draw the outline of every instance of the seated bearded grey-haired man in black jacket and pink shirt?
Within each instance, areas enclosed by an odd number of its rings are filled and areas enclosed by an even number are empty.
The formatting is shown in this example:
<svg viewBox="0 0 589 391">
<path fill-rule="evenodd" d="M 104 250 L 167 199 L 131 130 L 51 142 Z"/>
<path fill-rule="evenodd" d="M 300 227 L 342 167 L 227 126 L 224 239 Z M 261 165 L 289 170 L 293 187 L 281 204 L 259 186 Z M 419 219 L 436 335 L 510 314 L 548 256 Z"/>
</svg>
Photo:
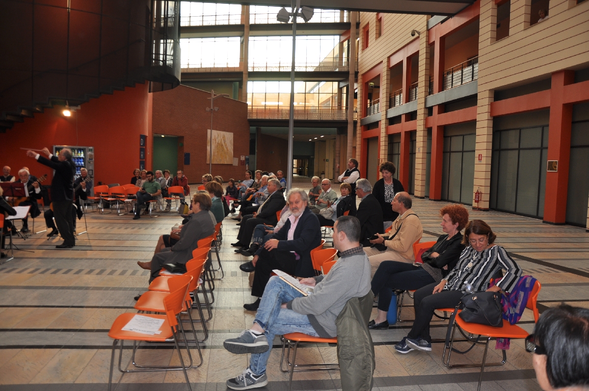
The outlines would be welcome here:
<svg viewBox="0 0 589 391">
<path fill-rule="evenodd" d="M 311 250 L 321 243 L 321 227 L 315 213 L 309 210 L 305 190 L 293 188 L 287 194 L 290 213 L 282 229 L 266 241 L 256 263 L 252 296 L 262 297 L 272 270 L 279 269 L 298 277 L 313 277 Z M 244 304 L 248 311 L 257 310 L 260 299 Z"/>
</svg>

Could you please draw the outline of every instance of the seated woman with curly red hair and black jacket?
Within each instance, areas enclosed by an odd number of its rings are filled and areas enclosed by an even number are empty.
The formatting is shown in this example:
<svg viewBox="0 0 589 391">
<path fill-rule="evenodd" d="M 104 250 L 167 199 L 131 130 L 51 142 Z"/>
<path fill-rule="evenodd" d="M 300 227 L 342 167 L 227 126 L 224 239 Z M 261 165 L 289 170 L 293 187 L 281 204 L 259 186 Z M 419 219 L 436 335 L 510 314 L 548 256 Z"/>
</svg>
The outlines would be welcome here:
<svg viewBox="0 0 589 391">
<path fill-rule="evenodd" d="M 454 269 L 464 244 L 460 231 L 468 224 L 468 211 L 459 204 L 446 205 L 440 209 L 442 231 L 436 244 L 421 255 L 423 263 L 415 267 L 399 261 L 380 263 L 372 279 L 372 293 L 378 296 L 378 316 L 370 320 L 372 330 L 388 329 L 386 315 L 391 305 L 392 290 L 417 290 L 431 283 L 440 283 Z"/>
</svg>

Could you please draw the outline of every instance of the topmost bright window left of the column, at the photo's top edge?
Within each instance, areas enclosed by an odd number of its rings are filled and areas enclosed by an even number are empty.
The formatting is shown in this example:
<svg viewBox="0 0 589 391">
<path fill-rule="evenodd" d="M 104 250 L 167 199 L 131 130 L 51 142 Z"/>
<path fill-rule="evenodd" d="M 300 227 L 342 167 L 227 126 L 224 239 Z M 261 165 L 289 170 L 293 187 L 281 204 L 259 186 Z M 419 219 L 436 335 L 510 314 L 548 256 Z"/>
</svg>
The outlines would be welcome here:
<svg viewBox="0 0 589 391">
<path fill-rule="evenodd" d="M 241 5 L 183 1 L 180 3 L 181 26 L 210 26 L 241 23 Z"/>
</svg>

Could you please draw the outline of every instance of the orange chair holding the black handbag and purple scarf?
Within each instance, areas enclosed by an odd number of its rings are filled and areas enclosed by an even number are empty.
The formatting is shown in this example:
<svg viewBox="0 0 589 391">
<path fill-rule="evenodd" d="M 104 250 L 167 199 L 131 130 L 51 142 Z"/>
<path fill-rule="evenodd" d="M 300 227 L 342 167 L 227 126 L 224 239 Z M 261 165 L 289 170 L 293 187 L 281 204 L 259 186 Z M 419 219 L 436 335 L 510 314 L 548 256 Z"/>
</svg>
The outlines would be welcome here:
<svg viewBox="0 0 589 391">
<path fill-rule="evenodd" d="M 532 310 L 532 312 L 534 313 L 534 322 L 538 322 L 538 317 L 540 317 L 540 313 L 538 312 L 538 307 L 537 307 L 537 303 L 538 303 L 538 293 L 540 293 L 540 289 L 542 288 L 542 285 L 540 284 L 540 281 L 536 281 L 534 284 L 534 288 L 532 289 L 530 296 L 528 296 L 528 302 L 526 303 L 525 307 L 527 309 Z M 458 311 L 458 313 L 461 310 L 458 309 L 454 309 L 453 311 Z M 481 367 L 481 374 L 479 375 L 479 382 L 478 382 L 478 388 L 477 391 L 481 390 L 481 381 L 482 381 L 482 373 L 485 371 L 485 366 L 499 366 L 499 365 L 504 365 L 505 362 L 507 362 L 507 354 L 505 353 L 505 350 L 502 350 L 503 352 L 503 360 L 501 362 L 498 363 L 491 363 L 488 364 L 487 363 L 487 352 L 489 350 L 489 341 L 491 341 L 491 338 L 511 338 L 511 339 L 524 339 L 525 337 L 528 336 L 528 332 L 525 331 L 524 329 L 522 329 L 521 327 L 519 327 L 517 324 L 509 324 L 509 322 L 504 321 L 503 322 L 503 326 L 502 327 L 493 327 L 493 326 L 487 326 L 485 324 L 478 324 L 478 323 L 468 323 L 465 322 L 464 320 L 462 320 L 461 317 L 458 316 L 458 313 L 456 313 L 456 317 L 454 319 L 454 330 L 452 330 L 452 338 L 450 339 L 450 345 L 446 348 L 446 346 L 444 346 L 444 352 L 442 353 L 442 363 L 444 363 L 444 365 L 448 368 L 454 368 L 454 367 Z M 448 327 L 450 327 L 448 325 Z M 479 364 L 454 364 L 451 365 L 450 364 L 450 356 L 452 354 L 452 343 L 454 343 L 454 334 L 456 334 L 456 328 L 459 328 L 461 333 L 466 336 L 465 333 L 468 333 L 472 336 L 484 336 L 487 337 L 487 340 L 484 342 L 479 342 L 478 340 L 475 341 L 474 337 L 473 339 L 468 338 L 468 341 L 471 343 L 478 343 L 478 344 L 484 344 L 485 345 L 485 353 L 482 356 L 482 363 Z M 448 350 L 448 359 L 444 362 L 445 359 L 445 355 L 446 355 L 446 350 Z"/>
</svg>

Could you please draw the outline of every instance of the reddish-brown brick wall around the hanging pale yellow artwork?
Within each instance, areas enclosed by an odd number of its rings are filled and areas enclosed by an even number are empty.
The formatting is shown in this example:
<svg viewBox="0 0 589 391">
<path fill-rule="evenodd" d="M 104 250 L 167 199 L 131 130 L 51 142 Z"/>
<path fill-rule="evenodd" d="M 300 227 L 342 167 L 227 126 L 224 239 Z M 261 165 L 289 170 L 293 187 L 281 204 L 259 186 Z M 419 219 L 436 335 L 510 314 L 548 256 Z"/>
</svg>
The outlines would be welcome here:
<svg viewBox="0 0 589 391">
<path fill-rule="evenodd" d="M 209 172 L 207 163 L 207 130 L 210 128 L 210 92 L 180 85 L 169 91 L 153 94 L 153 133 L 178 136 L 178 169 L 184 170 L 189 183 L 200 183 Z M 213 129 L 233 133 L 233 157 L 249 154 L 250 127 L 247 104 L 230 98 L 218 98 L 213 114 Z M 183 141 L 182 141 L 183 139 Z M 286 142 L 286 141 L 285 141 Z M 184 153 L 190 153 L 190 165 L 184 165 Z M 239 161 L 241 164 L 241 161 Z M 243 179 L 245 166 L 213 164 L 211 174 Z"/>
</svg>

